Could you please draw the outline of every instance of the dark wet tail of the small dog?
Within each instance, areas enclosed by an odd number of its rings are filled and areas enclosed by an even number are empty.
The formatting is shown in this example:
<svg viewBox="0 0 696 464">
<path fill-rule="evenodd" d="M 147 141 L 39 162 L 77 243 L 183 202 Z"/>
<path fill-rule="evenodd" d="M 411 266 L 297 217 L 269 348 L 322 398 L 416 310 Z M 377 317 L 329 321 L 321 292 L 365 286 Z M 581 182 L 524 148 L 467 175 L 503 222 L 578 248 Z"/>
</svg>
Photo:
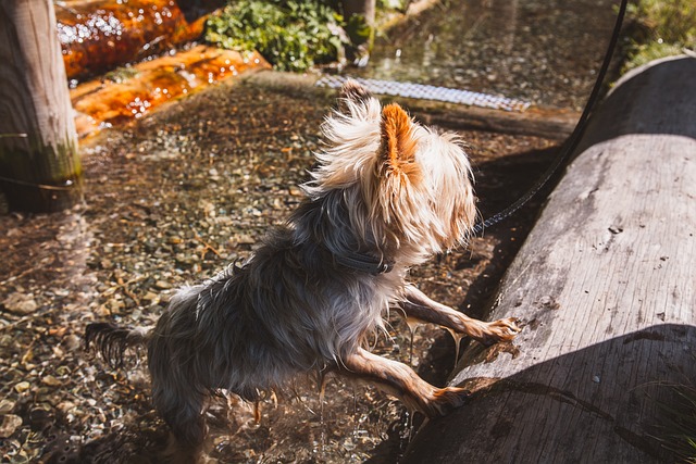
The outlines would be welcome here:
<svg viewBox="0 0 696 464">
<path fill-rule="evenodd" d="M 97 351 L 112 367 L 123 367 L 126 349 L 146 344 L 148 328 L 124 328 L 109 323 L 92 323 L 85 330 L 85 349 L 95 344 Z"/>
</svg>

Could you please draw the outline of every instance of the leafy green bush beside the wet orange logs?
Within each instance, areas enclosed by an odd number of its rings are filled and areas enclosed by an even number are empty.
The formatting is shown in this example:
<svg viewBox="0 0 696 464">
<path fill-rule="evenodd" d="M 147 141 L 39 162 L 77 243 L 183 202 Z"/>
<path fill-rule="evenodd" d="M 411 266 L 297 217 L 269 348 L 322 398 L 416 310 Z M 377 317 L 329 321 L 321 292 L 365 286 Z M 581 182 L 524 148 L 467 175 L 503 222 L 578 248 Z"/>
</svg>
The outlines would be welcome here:
<svg viewBox="0 0 696 464">
<path fill-rule="evenodd" d="M 279 71 L 301 72 L 340 58 L 343 17 L 326 0 L 240 0 L 208 20 L 206 39 L 261 53 Z"/>
</svg>

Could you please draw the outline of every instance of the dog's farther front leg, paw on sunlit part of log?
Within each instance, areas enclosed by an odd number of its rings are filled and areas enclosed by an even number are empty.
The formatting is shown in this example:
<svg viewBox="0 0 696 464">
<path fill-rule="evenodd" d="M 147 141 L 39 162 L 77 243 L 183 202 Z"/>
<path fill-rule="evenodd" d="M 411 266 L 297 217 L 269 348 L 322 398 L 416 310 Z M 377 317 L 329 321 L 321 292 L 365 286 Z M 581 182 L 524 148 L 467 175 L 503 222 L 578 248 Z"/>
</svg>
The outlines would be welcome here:
<svg viewBox="0 0 696 464">
<path fill-rule="evenodd" d="M 431 300 L 425 293 L 412 285 L 406 286 L 406 299 L 399 302 L 407 317 L 425 323 L 433 323 L 464 334 L 483 344 L 489 346 L 498 341 L 514 338 L 520 331 L 514 318 L 493 322 L 474 319 L 465 314 Z"/>
</svg>

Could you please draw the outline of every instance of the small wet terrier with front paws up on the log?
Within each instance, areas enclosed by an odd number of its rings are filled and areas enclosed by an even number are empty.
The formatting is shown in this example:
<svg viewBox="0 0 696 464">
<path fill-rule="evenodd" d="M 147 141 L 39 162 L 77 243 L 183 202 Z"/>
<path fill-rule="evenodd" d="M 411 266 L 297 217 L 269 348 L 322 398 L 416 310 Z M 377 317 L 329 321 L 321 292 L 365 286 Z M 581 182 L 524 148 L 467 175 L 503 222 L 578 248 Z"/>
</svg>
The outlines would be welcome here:
<svg viewBox="0 0 696 464">
<path fill-rule="evenodd" d="M 409 267 L 465 243 L 474 223 L 457 136 L 417 124 L 398 104 L 382 108 L 355 81 L 322 131 L 307 198 L 247 263 L 181 289 L 151 330 L 87 327 L 87 347 L 114 364 L 147 344 L 152 399 L 181 449 L 200 450 L 211 393 L 253 401 L 300 373 L 369 380 L 426 416 L 461 405 L 463 389 L 433 387 L 365 349 L 389 308 L 485 344 L 519 331 L 514 319 L 472 319 L 406 280 Z"/>
</svg>

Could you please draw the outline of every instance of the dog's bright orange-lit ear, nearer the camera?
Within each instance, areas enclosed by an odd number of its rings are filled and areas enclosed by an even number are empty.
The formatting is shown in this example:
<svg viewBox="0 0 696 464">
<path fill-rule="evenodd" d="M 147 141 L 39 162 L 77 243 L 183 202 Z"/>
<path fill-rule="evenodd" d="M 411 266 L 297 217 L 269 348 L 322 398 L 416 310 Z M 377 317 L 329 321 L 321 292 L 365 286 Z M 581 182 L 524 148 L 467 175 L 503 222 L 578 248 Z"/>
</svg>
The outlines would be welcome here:
<svg viewBox="0 0 696 464">
<path fill-rule="evenodd" d="M 397 103 L 382 110 L 380 155 L 385 172 L 407 176 L 415 181 L 420 168 L 415 163 L 413 122 Z"/>
</svg>

